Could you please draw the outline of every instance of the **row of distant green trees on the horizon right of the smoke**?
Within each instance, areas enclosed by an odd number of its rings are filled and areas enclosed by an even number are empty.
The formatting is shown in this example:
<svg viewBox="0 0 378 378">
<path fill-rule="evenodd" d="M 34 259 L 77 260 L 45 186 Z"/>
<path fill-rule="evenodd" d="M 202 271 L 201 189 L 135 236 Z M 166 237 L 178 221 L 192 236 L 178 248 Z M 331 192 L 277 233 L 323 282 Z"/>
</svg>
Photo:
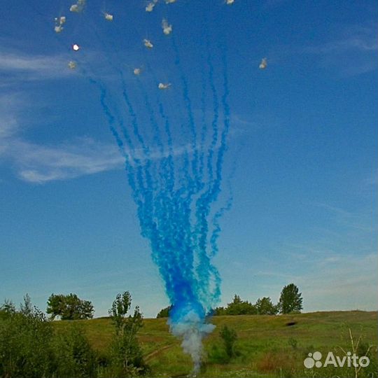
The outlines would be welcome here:
<svg viewBox="0 0 378 378">
<path fill-rule="evenodd" d="M 276 315 L 300 313 L 302 311 L 302 293 L 294 283 L 289 283 L 281 290 L 279 302 L 274 304 L 270 297 L 259 298 L 254 304 L 248 300 L 241 300 L 239 295 L 234 296 L 232 302 L 226 307 L 216 307 L 209 315 Z M 169 316 L 172 306 L 161 309 L 156 316 L 165 318 Z"/>
</svg>

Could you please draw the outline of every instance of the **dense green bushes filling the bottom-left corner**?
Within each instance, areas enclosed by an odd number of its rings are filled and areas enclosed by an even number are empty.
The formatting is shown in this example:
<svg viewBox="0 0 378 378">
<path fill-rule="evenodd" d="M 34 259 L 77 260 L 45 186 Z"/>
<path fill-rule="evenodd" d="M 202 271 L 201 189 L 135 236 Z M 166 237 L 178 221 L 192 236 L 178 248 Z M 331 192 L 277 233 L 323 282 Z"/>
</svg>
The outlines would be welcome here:
<svg viewBox="0 0 378 378">
<path fill-rule="evenodd" d="M 77 325 L 55 334 L 26 295 L 18 311 L 0 307 L 0 377 L 96 378 L 97 360 Z"/>
</svg>

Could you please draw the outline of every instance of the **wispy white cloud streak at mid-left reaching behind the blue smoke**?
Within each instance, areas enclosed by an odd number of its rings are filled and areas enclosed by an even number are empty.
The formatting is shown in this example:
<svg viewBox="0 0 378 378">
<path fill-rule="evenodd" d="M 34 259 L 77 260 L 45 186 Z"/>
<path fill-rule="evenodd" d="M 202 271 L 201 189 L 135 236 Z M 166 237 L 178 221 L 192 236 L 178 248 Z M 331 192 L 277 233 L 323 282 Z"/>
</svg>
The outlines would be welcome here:
<svg viewBox="0 0 378 378">
<path fill-rule="evenodd" d="M 18 109 L 25 102 L 18 94 L 0 96 L 0 163 L 10 162 L 23 181 L 46 183 L 48 181 L 74 179 L 78 176 L 97 174 L 125 166 L 116 143 L 103 143 L 89 137 L 76 137 L 58 144 L 38 144 L 22 137 L 22 120 Z M 174 156 L 190 153 L 190 145 L 172 148 Z M 159 160 L 169 155 L 165 148 L 151 148 L 146 156 L 141 148 L 125 149 L 124 154 L 138 159 L 141 164 L 147 160 Z"/>
</svg>

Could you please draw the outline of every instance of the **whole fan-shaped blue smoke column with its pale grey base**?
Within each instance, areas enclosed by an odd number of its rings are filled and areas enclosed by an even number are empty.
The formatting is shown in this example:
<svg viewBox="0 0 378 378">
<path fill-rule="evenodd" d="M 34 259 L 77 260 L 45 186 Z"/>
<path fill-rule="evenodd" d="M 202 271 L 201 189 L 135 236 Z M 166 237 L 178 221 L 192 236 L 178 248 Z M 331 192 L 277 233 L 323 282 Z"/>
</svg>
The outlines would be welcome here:
<svg viewBox="0 0 378 378">
<path fill-rule="evenodd" d="M 214 209 L 230 130 L 226 48 L 216 46 L 218 64 L 214 64 L 216 57 L 206 36 L 197 93 L 186 73 L 179 40 L 174 34 L 162 37 L 170 46 L 169 69 L 177 79 L 165 92 L 158 90 L 153 53 L 144 52 L 144 75 L 131 79 L 116 39 L 122 31 L 115 28 L 104 37 L 93 22 L 90 31 L 104 50 L 102 64 L 111 70 L 110 79 L 85 52 L 80 70 L 100 90 L 104 116 L 125 157 L 141 235 L 150 243 L 172 304 L 170 330 L 182 339 L 198 372 L 202 339 L 214 330 L 207 315 L 221 295 L 221 278 L 211 262 L 218 251 L 219 218 L 232 203 L 230 197 L 227 204 Z"/>
</svg>

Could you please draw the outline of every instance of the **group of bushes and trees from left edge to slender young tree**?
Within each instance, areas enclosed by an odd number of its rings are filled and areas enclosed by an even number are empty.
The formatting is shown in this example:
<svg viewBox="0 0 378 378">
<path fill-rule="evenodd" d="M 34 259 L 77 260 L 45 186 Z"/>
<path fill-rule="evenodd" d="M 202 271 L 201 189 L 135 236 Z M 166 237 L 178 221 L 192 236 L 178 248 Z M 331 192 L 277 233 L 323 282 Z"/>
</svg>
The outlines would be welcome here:
<svg viewBox="0 0 378 378">
<path fill-rule="evenodd" d="M 93 307 L 77 295 L 52 295 L 50 319 L 31 305 L 29 295 L 19 309 L 0 305 L 0 377 L 6 378 L 125 378 L 150 372 L 144 362 L 137 333 L 143 326 L 139 307 L 131 311 L 128 291 L 118 294 L 109 316 L 113 335 L 101 354 L 88 341 L 80 323 L 52 326 L 52 318 L 90 318 Z"/>
</svg>

